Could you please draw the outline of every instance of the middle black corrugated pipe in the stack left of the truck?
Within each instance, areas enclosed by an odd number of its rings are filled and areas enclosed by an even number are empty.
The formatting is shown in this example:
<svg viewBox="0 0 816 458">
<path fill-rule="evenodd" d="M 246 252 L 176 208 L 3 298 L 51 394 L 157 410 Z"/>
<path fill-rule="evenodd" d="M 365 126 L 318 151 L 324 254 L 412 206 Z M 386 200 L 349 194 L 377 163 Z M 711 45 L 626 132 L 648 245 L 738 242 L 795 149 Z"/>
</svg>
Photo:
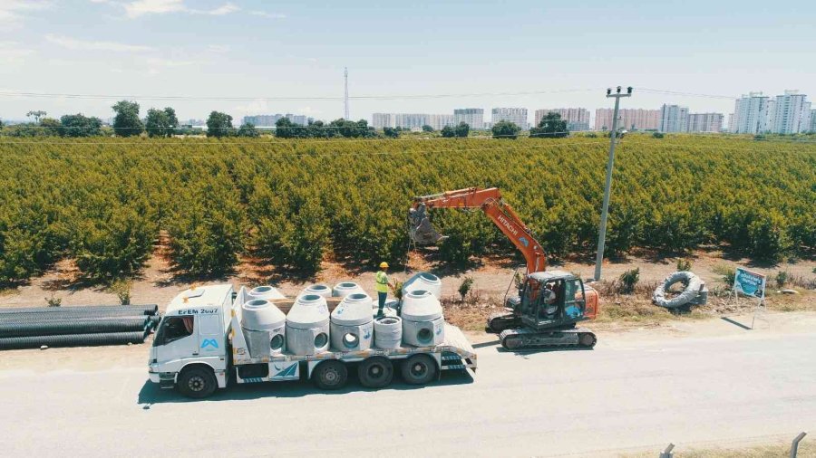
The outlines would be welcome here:
<svg viewBox="0 0 816 458">
<path fill-rule="evenodd" d="M 144 331 L 151 324 L 150 317 L 120 320 L 33 321 L 30 323 L 0 323 L 0 336 L 56 336 L 63 334 L 102 334 L 111 332 Z"/>
</svg>

